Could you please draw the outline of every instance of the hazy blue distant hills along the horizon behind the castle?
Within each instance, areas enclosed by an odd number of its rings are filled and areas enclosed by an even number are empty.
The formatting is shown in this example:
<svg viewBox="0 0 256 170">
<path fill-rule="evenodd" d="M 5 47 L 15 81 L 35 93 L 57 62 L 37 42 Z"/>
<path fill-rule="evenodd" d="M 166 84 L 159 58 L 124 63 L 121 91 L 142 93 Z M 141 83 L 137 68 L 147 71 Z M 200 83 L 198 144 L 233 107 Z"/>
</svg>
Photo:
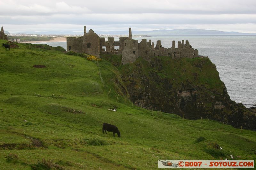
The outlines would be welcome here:
<svg viewBox="0 0 256 170">
<path fill-rule="evenodd" d="M 43 34 L 43 35 L 83 35 L 84 32 L 72 32 L 72 31 L 59 31 L 59 32 L 29 32 L 33 34 Z M 128 28 L 125 31 L 96 31 L 97 34 L 108 34 L 108 35 L 128 35 Z M 9 33 L 8 31 L 4 31 Z M 24 32 L 22 32 L 24 33 Z M 204 30 L 204 29 L 174 29 L 174 30 L 152 30 L 152 31 L 132 31 L 133 35 L 256 35 L 256 33 L 239 33 L 239 32 L 226 32 L 218 30 Z"/>
</svg>

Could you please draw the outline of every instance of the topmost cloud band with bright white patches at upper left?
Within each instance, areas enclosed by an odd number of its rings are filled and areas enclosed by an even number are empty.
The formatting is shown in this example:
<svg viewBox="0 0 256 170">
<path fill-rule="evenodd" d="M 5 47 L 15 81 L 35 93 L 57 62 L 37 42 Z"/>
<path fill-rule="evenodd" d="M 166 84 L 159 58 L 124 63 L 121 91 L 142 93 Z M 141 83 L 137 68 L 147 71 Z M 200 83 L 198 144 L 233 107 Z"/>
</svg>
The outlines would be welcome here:
<svg viewBox="0 0 256 170">
<path fill-rule="evenodd" d="M 3 1 L 0 5 L 2 15 L 52 15 L 52 14 L 256 14 L 254 0 L 130 0 L 130 1 Z M 16 10 L 13 10 L 16 9 Z M 12 12 L 10 12 L 12 11 Z"/>
</svg>

